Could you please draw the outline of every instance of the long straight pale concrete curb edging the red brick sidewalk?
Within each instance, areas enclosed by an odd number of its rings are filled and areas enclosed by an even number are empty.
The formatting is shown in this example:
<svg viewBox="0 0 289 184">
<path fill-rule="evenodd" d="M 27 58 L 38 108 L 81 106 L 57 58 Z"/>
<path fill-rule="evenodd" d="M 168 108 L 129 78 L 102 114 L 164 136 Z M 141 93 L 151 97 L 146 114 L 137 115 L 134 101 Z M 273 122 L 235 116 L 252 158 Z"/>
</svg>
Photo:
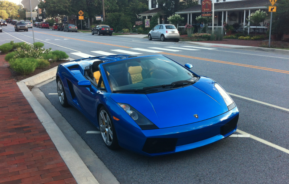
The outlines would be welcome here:
<svg viewBox="0 0 289 184">
<path fill-rule="evenodd" d="M 59 127 L 55 124 L 46 110 L 27 88 L 26 84 L 24 82 L 17 82 L 17 85 L 19 86 L 19 89 L 21 90 L 24 97 L 27 99 L 28 103 L 31 105 L 36 116 L 46 129 L 61 158 L 66 163 L 68 169 L 73 175 L 75 181 L 78 184 L 99 184 L 96 178 L 88 170 L 87 166 L 83 163 L 75 149 L 63 135 Z"/>
</svg>

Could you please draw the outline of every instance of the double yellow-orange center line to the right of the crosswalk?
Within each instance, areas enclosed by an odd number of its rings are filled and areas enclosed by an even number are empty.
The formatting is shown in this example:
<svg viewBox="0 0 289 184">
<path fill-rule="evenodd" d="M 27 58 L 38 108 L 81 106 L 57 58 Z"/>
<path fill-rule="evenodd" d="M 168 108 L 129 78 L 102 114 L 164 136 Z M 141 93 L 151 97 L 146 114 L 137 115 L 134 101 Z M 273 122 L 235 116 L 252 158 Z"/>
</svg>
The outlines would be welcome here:
<svg viewBox="0 0 289 184">
<path fill-rule="evenodd" d="M 278 70 L 278 69 L 273 69 L 273 68 L 258 67 L 258 66 L 253 66 L 253 65 L 232 63 L 232 62 L 219 61 L 219 60 L 214 60 L 214 59 L 198 58 L 198 57 L 193 57 L 193 56 L 184 56 L 184 55 L 171 54 L 171 53 L 166 53 L 166 52 L 160 52 L 160 53 L 161 54 L 168 54 L 168 55 L 172 55 L 172 56 L 186 57 L 186 58 L 191 58 L 191 59 L 200 59 L 200 60 L 212 61 L 212 62 L 216 62 L 216 63 L 232 64 L 232 65 L 237 65 L 237 66 L 242 66 L 242 67 L 250 67 L 250 68 L 256 68 L 256 69 L 261 69 L 261 70 L 268 70 L 268 71 L 275 71 L 275 72 L 289 74 L 289 71 L 286 71 L 286 70 Z"/>
</svg>

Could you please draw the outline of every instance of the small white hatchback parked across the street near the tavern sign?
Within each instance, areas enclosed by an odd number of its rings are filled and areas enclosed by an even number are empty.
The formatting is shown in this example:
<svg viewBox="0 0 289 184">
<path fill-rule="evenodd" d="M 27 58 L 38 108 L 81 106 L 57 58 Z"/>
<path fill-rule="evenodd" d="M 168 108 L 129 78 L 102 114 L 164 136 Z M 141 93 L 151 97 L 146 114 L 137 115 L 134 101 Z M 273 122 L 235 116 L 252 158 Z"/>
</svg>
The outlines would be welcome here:
<svg viewBox="0 0 289 184">
<path fill-rule="evenodd" d="M 180 33 L 174 25 L 159 24 L 150 30 L 148 38 L 149 40 L 161 39 L 161 41 L 173 39 L 178 42 L 180 40 Z"/>
</svg>

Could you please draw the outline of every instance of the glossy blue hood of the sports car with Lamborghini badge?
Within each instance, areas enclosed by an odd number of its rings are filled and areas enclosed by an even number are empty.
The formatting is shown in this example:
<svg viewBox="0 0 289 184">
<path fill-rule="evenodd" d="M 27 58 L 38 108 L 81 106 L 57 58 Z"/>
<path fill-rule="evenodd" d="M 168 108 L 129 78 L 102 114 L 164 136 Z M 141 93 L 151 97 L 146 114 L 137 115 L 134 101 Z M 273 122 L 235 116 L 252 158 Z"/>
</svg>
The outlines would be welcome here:
<svg viewBox="0 0 289 184">
<path fill-rule="evenodd" d="M 203 82 L 196 87 L 191 85 L 152 94 L 113 93 L 111 98 L 118 103 L 132 105 L 157 127 L 168 128 L 203 121 L 227 112 L 228 108 L 222 96 L 212 85 L 214 84 L 204 85 Z M 210 86 L 206 89 L 208 93 L 203 92 L 203 86 Z M 195 114 L 198 118 L 193 116 Z"/>
</svg>

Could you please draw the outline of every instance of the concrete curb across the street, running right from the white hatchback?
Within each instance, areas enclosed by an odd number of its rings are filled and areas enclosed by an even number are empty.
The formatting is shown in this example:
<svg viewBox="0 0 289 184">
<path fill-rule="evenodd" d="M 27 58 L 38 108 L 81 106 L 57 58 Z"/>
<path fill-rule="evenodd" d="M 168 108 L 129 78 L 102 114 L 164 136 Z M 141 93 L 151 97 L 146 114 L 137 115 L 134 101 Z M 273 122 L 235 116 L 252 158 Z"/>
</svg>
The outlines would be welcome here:
<svg viewBox="0 0 289 184">
<path fill-rule="evenodd" d="M 204 47 L 211 47 L 211 45 L 219 45 L 221 48 L 224 47 L 224 48 L 229 48 L 229 49 L 238 49 L 238 50 L 246 50 L 246 51 L 265 51 L 265 52 L 271 52 L 275 54 L 289 55 L 289 50 L 276 49 L 276 48 L 263 48 L 263 47 L 251 47 L 251 46 L 242 46 L 242 45 L 211 44 L 211 43 L 203 43 L 203 42 L 179 41 L 179 44 L 185 44 L 185 43 L 191 44 L 191 45 L 204 46 Z"/>
</svg>

